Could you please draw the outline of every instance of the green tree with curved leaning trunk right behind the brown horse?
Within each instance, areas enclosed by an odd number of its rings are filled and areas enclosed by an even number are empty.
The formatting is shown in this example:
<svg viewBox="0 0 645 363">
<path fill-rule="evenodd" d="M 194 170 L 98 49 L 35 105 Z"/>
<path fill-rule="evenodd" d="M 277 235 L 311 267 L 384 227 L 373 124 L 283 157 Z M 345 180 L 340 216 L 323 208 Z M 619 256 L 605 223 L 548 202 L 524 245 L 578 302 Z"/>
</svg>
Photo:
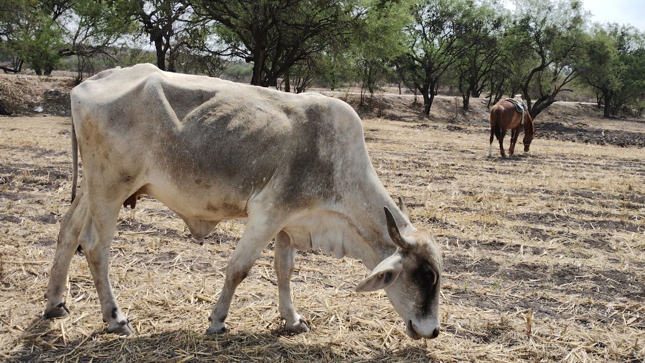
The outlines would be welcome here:
<svg viewBox="0 0 645 363">
<path fill-rule="evenodd" d="M 583 38 L 584 11 L 578 0 L 516 0 L 517 16 L 506 36 L 512 69 L 531 118 L 556 101 L 577 78 L 575 59 Z"/>
</svg>

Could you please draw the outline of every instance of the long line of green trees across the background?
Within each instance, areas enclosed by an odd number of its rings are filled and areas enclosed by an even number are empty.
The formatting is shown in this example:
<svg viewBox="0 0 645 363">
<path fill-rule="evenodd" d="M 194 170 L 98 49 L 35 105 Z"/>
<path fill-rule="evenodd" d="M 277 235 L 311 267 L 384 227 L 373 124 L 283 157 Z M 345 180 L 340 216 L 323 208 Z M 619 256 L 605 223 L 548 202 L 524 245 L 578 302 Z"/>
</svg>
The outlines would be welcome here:
<svg viewBox="0 0 645 363">
<path fill-rule="evenodd" d="M 591 24 L 577 0 L 0 0 L 0 67 L 77 80 L 148 61 L 170 72 L 303 92 L 385 84 L 493 103 L 521 93 L 535 118 L 567 92 L 605 116 L 645 106 L 645 37 Z"/>
</svg>

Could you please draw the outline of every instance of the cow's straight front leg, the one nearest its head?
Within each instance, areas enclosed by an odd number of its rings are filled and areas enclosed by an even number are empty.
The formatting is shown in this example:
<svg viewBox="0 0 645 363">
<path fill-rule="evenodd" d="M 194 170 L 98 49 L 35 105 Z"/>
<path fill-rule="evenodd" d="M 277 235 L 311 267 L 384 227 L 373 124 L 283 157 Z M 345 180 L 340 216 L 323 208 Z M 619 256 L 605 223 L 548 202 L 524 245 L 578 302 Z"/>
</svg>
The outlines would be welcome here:
<svg viewBox="0 0 645 363">
<path fill-rule="evenodd" d="M 309 331 L 307 323 L 293 308 L 291 297 L 291 274 L 295 260 L 295 248 L 289 235 L 281 231 L 275 236 L 275 274 L 278 278 L 278 309 L 284 319 L 284 329 L 291 333 Z"/>
</svg>

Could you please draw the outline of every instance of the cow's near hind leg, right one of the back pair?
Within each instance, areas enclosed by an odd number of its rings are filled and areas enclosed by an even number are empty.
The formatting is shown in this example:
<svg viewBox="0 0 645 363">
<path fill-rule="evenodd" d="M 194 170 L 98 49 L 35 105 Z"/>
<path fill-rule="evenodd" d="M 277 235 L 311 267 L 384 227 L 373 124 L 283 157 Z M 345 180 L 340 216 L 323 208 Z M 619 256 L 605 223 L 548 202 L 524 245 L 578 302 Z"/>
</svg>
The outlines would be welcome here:
<svg viewBox="0 0 645 363">
<path fill-rule="evenodd" d="M 88 216 L 79 242 L 85 252 L 96 291 L 101 301 L 101 311 L 103 321 L 108 323 L 108 333 L 121 335 L 133 335 L 134 329 L 130 325 L 130 320 L 119 308 L 117 300 L 112 291 L 108 267 L 110 264 L 110 245 L 114 237 L 117 218 L 119 216 L 119 207 L 116 205 L 88 203 Z"/>
</svg>

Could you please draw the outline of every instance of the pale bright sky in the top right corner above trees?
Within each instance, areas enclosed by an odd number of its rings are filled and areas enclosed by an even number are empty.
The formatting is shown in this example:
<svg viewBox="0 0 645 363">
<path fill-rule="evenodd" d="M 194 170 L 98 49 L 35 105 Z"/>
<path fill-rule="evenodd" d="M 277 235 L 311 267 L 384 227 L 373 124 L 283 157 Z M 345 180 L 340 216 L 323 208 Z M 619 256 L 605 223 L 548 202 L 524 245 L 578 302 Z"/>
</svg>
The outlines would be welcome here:
<svg viewBox="0 0 645 363">
<path fill-rule="evenodd" d="M 631 24 L 645 31 L 644 0 L 582 0 L 585 10 L 591 12 L 591 21 L 599 23 Z"/>
</svg>

